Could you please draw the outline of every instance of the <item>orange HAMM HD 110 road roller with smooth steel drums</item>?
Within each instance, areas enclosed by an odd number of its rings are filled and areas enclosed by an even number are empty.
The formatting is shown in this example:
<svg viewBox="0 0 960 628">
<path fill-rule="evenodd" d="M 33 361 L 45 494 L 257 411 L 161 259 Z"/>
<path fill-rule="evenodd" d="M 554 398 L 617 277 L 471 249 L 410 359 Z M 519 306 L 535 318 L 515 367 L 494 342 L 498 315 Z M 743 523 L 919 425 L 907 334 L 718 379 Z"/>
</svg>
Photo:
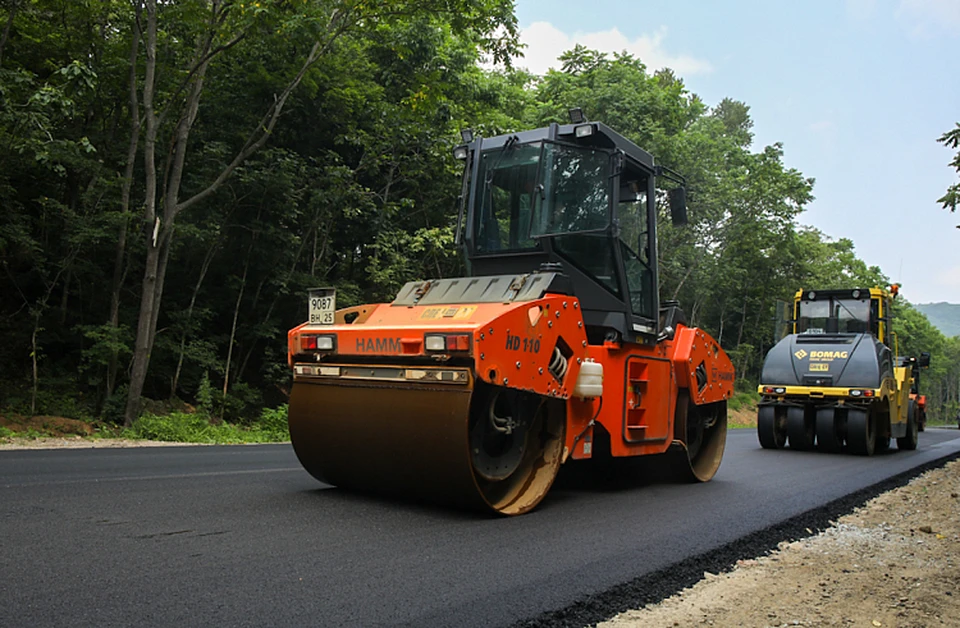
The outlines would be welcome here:
<svg viewBox="0 0 960 628">
<path fill-rule="evenodd" d="M 312 291 L 288 335 L 300 462 L 335 486 L 505 515 L 570 459 L 662 454 L 709 480 L 734 372 L 659 300 L 657 201 L 684 222 L 682 178 L 599 122 L 462 135 L 470 276 L 339 310 Z"/>
</svg>

